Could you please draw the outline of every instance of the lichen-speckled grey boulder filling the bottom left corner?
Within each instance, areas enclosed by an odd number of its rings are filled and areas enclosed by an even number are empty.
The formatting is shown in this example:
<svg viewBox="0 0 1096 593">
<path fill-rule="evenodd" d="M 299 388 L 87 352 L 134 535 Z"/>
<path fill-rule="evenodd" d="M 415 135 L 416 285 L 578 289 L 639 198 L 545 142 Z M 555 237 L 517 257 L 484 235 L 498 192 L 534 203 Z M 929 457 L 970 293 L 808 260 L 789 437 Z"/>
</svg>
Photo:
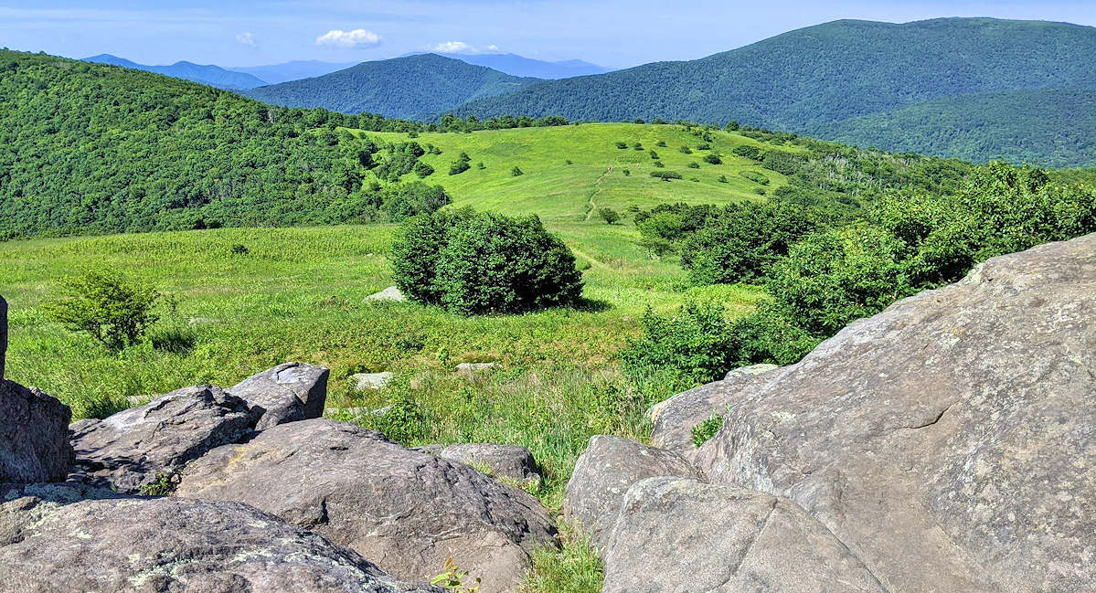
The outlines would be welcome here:
<svg viewBox="0 0 1096 593">
<path fill-rule="evenodd" d="M 94 494 L 0 487 L 0 593 L 441 593 L 246 504 Z"/>
</svg>

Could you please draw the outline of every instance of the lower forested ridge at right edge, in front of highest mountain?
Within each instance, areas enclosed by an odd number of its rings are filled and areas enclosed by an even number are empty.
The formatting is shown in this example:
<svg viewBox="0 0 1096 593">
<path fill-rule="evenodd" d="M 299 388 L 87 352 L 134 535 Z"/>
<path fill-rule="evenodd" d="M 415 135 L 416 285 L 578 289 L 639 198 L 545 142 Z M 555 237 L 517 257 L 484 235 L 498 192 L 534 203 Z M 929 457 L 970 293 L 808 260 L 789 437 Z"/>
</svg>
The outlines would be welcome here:
<svg viewBox="0 0 1096 593">
<path fill-rule="evenodd" d="M 1096 167 L 1096 91 L 964 94 L 811 128 L 811 135 L 981 162 Z"/>
</svg>

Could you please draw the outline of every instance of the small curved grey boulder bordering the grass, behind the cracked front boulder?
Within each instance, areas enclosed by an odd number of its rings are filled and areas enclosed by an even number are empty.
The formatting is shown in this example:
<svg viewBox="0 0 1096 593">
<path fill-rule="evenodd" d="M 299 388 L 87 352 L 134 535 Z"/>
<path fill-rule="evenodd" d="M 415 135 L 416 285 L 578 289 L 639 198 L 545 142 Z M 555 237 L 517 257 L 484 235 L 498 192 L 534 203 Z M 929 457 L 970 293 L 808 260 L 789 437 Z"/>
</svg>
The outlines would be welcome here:
<svg viewBox="0 0 1096 593">
<path fill-rule="evenodd" d="M 592 436 L 567 482 L 563 511 L 578 520 L 594 545 L 602 548 L 628 489 L 642 479 L 657 476 L 700 477 L 696 468 L 676 453 L 619 436 Z"/>
</svg>

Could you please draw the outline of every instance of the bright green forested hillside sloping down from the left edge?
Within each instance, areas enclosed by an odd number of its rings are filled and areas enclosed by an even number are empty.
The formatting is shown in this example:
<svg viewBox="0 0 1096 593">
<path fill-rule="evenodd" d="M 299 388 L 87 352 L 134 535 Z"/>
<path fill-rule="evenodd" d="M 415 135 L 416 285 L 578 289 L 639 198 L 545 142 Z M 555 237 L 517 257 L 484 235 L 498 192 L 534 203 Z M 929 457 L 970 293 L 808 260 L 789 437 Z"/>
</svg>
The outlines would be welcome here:
<svg viewBox="0 0 1096 593">
<path fill-rule="evenodd" d="M 376 116 L 7 50 L 0 96 L 0 238 L 368 220 L 435 192 L 362 187 L 377 147 L 333 130 L 408 125 Z"/>
</svg>

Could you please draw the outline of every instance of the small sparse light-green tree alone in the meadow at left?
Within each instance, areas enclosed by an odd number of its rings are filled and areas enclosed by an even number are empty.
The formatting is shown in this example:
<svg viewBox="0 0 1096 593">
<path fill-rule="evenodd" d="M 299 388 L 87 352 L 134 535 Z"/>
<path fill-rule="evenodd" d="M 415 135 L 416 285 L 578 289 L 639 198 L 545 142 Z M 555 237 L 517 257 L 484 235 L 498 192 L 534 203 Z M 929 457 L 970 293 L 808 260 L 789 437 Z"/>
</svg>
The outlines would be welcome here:
<svg viewBox="0 0 1096 593">
<path fill-rule="evenodd" d="M 163 298 L 147 284 L 112 270 L 89 270 L 67 278 L 60 296 L 44 305 L 49 316 L 72 331 L 91 335 L 118 351 L 136 344 L 159 320 L 156 305 Z"/>
</svg>

